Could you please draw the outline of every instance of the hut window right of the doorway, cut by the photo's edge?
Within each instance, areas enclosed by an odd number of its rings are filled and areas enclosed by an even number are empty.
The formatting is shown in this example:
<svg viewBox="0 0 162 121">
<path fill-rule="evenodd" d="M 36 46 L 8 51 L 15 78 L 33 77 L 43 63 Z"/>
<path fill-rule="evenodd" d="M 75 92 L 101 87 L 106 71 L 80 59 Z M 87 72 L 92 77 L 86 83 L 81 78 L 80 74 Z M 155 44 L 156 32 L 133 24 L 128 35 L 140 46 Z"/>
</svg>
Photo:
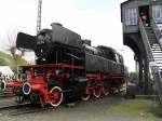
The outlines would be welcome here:
<svg viewBox="0 0 162 121">
<path fill-rule="evenodd" d="M 156 23 L 162 23 L 162 5 L 153 5 L 152 6 L 152 17 Z"/>
</svg>

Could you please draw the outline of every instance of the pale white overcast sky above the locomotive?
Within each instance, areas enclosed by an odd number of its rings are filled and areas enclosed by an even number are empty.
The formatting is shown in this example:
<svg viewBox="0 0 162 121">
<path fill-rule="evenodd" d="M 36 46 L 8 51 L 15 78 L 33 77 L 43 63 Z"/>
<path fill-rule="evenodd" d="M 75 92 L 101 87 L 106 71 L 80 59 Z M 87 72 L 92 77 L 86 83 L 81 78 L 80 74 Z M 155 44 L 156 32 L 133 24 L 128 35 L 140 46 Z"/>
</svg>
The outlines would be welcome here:
<svg viewBox="0 0 162 121">
<path fill-rule="evenodd" d="M 134 53 L 123 45 L 120 3 L 125 0 L 43 0 L 41 28 L 52 23 L 90 39 L 92 45 L 107 45 L 124 56 L 130 71 L 135 70 Z M 18 31 L 36 35 L 38 0 L 0 0 L 0 51 L 8 38 Z M 29 55 L 28 55 L 29 56 Z"/>
</svg>

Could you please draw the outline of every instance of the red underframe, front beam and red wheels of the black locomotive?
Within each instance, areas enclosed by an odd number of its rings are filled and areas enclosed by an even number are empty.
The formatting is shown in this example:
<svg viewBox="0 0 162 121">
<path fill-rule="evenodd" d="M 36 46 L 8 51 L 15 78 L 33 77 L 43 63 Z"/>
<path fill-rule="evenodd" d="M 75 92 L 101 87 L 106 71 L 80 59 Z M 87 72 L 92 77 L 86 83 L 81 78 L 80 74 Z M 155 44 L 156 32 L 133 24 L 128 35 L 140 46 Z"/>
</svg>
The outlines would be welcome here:
<svg viewBox="0 0 162 121">
<path fill-rule="evenodd" d="M 13 88 L 14 93 L 16 93 L 17 97 L 19 98 L 19 103 L 23 103 L 26 99 L 26 95 L 31 94 L 31 103 L 39 103 L 41 107 L 44 107 L 46 104 L 51 104 L 53 107 L 57 107 L 60 105 L 60 103 L 64 99 L 64 91 L 62 89 L 62 84 L 64 81 L 70 78 L 70 73 L 68 72 L 68 70 L 85 70 L 85 68 L 82 66 L 71 66 L 67 64 L 32 65 L 23 66 L 21 68 L 28 71 L 25 75 L 25 77 L 22 77 L 22 79 L 17 81 L 4 83 L 5 85 L 3 85 L 3 89 Z M 37 68 L 45 68 L 46 71 L 44 71 L 43 73 L 36 73 L 35 70 Z M 66 68 L 67 71 L 64 73 L 59 73 L 57 69 L 52 71 L 51 68 Z M 48 79 L 50 77 L 54 77 L 60 80 L 59 83 L 57 83 L 51 90 L 49 90 L 48 84 Z M 86 78 L 87 81 L 85 85 L 85 92 L 84 95 L 81 96 L 83 100 L 89 100 L 91 95 L 94 95 L 96 98 L 99 98 L 102 96 L 102 93 L 104 95 L 108 95 L 112 91 L 120 91 L 122 85 L 125 83 L 124 77 L 120 73 L 86 73 Z M 108 81 L 114 81 L 117 79 L 120 82 L 119 84 L 112 86 L 109 83 L 107 83 Z M 22 89 L 23 92 L 16 92 L 16 89 Z"/>
</svg>

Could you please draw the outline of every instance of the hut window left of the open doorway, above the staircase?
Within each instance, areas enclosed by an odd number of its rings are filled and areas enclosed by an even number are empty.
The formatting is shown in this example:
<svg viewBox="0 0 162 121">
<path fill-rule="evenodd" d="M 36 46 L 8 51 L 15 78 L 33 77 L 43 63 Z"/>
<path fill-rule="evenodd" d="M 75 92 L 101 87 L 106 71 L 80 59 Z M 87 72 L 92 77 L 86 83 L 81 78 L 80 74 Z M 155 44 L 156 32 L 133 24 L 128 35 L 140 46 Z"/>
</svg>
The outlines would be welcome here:
<svg viewBox="0 0 162 121">
<path fill-rule="evenodd" d="M 136 9 L 125 9 L 125 25 L 126 26 L 137 25 L 137 10 Z"/>
</svg>

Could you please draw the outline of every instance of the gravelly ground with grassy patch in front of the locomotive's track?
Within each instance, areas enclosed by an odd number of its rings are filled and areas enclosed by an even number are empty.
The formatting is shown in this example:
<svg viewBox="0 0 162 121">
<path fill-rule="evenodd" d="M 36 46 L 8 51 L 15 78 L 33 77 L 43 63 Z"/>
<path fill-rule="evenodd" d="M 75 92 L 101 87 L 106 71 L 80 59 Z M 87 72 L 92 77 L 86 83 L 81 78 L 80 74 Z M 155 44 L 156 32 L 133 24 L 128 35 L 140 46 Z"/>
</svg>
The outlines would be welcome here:
<svg viewBox="0 0 162 121">
<path fill-rule="evenodd" d="M 130 106 L 132 103 L 134 107 Z M 41 112 L 19 116 L 0 113 L 0 121 L 162 121 L 161 116 L 150 110 L 148 112 L 149 106 L 157 109 L 153 100 L 108 96 L 86 103 L 79 102 L 73 107 L 62 105 L 56 109 Z M 146 107 L 147 110 L 144 109 Z"/>
</svg>

